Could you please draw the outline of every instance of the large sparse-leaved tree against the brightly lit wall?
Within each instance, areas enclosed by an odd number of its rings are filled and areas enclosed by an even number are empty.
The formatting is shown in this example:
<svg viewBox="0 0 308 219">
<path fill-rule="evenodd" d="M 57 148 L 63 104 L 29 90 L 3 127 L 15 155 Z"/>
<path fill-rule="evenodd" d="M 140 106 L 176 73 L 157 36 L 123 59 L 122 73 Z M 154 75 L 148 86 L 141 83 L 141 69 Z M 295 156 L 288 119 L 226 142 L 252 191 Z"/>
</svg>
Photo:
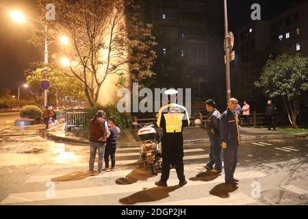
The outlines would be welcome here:
<svg viewBox="0 0 308 219">
<path fill-rule="evenodd" d="M 40 20 L 46 22 L 45 5 L 49 1 L 38 3 L 42 11 Z M 90 105 L 97 103 L 108 76 L 118 76 L 118 85 L 123 86 L 129 77 L 139 81 L 153 75 L 150 68 L 155 52 L 151 47 L 155 42 L 151 25 L 138 21 L 135 12 L 139 8 L 134 1 L 55 0 L 53 4 L 55 21 L 48 21 L 47 33 L 36 31 L 31 42 L 40 42 L 38 39 L 44 34 L 50 39 L 58 38 L 59 34 L 68 37 L 70 45 L 63 47 L 62 55 L 69 57 L 70 72 L 83 84 Z"/>
</svg>

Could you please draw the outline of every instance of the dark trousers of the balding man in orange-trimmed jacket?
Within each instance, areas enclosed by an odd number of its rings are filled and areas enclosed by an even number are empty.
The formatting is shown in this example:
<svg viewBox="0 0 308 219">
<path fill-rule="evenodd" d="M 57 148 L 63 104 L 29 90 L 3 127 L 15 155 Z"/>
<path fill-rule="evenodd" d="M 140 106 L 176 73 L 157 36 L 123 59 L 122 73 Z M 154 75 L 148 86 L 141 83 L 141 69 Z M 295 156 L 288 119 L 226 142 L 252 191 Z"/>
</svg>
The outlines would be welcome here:
<svg viewBox="0 0 308 219">
<path fill-rule="evenodd" d="M 238 164 L 238 146 L 227 146 L 227 149 L 223 149 L 224 153 L 224 180 L 226 182 L 233 181 L 233 175 L 236 165 Z"/>
</svg>

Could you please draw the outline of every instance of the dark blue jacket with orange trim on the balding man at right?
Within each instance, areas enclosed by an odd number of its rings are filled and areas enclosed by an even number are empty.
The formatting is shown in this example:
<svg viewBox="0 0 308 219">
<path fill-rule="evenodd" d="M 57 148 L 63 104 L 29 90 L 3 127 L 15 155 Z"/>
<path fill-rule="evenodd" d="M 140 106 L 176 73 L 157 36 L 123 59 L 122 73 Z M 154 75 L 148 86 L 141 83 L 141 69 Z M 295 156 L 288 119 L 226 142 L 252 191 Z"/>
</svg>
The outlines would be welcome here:
<svg viewBox="0 0 308 219">
<path fill-rule="evenodd" d="M 229 108 L 220 115 L 220 141 L 227 146 L 240 145 L 240 131 L 238 129 L 238 114 Z"/>
</svg>

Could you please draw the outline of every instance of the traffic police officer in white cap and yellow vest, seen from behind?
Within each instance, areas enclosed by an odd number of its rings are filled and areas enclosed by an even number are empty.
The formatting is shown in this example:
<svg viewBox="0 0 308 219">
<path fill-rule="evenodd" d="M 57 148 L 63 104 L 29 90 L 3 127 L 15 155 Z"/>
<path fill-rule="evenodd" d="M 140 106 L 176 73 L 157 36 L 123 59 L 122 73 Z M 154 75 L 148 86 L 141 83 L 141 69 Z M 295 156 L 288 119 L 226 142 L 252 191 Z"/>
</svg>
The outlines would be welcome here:
<svg viewBox="0 0 308 219">
<path fill-rule="evenodd" d="M 183 127 L 190 125 L 188 112 L 185 107 L 175 103 L 177 90 L 169 89 L 165 92 L 168 104 L 161 107 L 157 117 L 157 126 L 162 127 L 162 176 L 155 182 L 158 186 L 168 186 L 170 164 L 173 162 L 179 179 L 179 186 L 187 183 L 183 166 Z"/>
</svg>

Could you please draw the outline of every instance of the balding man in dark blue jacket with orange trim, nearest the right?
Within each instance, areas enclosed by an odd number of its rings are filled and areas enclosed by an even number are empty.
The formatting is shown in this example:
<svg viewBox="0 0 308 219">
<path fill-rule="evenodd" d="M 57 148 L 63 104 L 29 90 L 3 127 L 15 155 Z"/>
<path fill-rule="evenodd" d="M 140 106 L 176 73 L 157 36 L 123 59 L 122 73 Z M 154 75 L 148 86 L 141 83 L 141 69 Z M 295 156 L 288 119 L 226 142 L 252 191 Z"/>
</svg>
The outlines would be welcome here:
<svg viewBox="0 0 308 219">
<path fill-rule="evenodd" d="M 238 126 L 238 114 L 235 109 L 238 100 L 228 100 L 228 108 L 220 116 L 220 141 L 224 154 L 224 175 L 227 185 L 235 185 L 234 179 L 236 165 L 238 164 L 238 146 L 240 145 L 240 131 Z"/>
</svg>

